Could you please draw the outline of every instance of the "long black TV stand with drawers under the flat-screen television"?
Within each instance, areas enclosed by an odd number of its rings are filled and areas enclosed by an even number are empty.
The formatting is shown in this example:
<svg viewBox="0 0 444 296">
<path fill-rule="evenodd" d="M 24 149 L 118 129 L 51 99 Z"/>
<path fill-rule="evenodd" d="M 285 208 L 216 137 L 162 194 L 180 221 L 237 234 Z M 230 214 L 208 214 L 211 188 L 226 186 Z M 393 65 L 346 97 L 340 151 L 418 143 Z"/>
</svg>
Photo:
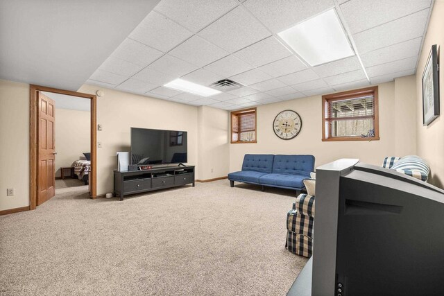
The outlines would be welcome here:
<svg viewBox="0 0 444 296">
<path fill-rule="evenodd" d="M 164 166 L 143 171 L 114 171 L 114 196 L 120 200 L 128 194 L 154 191 L 192 184 L 194 187 L 194 166 Z"/>
</svg>

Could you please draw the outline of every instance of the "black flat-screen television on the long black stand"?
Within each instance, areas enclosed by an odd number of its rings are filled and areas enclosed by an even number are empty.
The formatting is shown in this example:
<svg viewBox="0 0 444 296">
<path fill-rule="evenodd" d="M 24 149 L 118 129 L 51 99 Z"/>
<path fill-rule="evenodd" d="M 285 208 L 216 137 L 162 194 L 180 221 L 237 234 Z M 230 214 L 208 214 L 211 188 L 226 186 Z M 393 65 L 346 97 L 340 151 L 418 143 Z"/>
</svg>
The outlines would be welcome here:
<svg viewBox="0 0 444 296">
<path fill-rule="evenodd" d="M 187 132 L 131 128 L 131 164 L 187 162 Z"/>
</svg>

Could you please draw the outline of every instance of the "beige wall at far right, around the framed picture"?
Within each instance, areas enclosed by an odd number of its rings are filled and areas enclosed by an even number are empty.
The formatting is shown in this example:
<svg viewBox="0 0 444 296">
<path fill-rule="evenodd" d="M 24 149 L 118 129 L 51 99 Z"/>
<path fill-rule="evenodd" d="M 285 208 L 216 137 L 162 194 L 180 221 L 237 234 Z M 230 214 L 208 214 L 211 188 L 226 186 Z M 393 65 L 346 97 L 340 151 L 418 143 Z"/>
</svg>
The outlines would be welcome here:
<svg viewBox="0 0 444 296">
<path fill-rule="evenodd" d="M 416 71 L 416 133 L 418 155 L 424 158 L 431 169 L 432 184 L 444 187 L 444 75 L 439 74 L 441 110 L 440 116 L 428 126 L 422 126 L 422 73 L 433 44 L 438 45 L 438 56 L 444 44 L 444 1 L 435 1 L 427 28 L 427 35 L 420 53 Z M 439 59 L 438 59 L 439 60 Z M 443 59 L 441 58 L 441 61 Z"/>
</svg>

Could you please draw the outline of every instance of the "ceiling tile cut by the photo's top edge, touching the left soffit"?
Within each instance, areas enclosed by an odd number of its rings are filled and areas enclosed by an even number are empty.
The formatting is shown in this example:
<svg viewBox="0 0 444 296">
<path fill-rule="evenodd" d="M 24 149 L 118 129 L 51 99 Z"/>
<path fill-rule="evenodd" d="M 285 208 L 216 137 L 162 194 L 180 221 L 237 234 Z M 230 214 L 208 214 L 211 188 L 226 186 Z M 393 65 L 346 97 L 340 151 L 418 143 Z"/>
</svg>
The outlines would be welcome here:
<svg viewBox="0 0 444 296">
<path fill-rule="evenodd" d="M 162 0 L 154 10 L 197 33 L 236 5 L 233 0 Z"/>
</svg>

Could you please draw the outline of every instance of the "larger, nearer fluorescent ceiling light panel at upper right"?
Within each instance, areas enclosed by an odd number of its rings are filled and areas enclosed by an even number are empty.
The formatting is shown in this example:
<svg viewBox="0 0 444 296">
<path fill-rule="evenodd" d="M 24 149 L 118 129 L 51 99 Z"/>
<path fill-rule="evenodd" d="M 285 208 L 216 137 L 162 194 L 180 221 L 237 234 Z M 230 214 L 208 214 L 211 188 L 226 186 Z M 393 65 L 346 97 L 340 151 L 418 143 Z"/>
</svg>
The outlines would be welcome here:
<svg viewBox="0 0 444 296">
<path fill-rule="evenodd" d="M 355 54 L 334 9 L 302 21 L 278 36 L 311 66 Z"/>
</svg>

